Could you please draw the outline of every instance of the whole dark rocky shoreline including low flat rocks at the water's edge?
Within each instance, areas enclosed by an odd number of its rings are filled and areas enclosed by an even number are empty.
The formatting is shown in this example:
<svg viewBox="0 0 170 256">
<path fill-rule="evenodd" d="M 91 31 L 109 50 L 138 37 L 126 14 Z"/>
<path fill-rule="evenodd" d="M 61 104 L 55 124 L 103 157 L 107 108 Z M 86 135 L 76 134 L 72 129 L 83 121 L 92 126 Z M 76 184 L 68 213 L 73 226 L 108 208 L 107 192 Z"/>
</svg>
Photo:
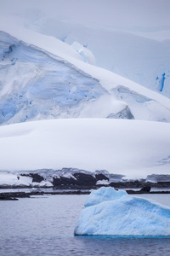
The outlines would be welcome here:
<svg viewBox="0 0 170 256">
<path fill-rule="evenodd" d="M 0 186 L 0 200 L 17 200 L 32 195 L 88 195 L 91 189 L 102 186 L 114 189 L 124 189 L 127 194 L 170 194 L 169 175 L 151 175 L 146 179 L 123 180 L 122 175 L 110 174 L 106 171 L 87 172 L 84 170 L 63 168 L 62 170 L 37 170 L 32 172 L 18 172 L 15 174 L 18 181 L 22 177 L 31 178 L 30 185 L 3 184 Z M 44 185 L 42 183 L 48 183 Z M 31 192 L 5 192 L 1 189 L 32 189 Z M 150 191 L 156 188 L 159 191 Z M 48 191 L 50 189 L 50 192 Z M 41 191 L 40 191 L 41 190 Z"/>
</svg>

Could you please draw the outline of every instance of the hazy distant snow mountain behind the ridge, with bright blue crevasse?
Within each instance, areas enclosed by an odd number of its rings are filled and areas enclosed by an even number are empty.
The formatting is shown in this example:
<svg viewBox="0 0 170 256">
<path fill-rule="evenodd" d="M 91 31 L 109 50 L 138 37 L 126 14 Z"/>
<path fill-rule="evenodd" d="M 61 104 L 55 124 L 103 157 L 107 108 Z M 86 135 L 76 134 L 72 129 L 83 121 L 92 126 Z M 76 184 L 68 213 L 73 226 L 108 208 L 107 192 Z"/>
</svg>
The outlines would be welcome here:
<svg viewBox="0 0 170 256">
<path fill-rule="evenodd" d="M 77 25 L 49 18 L 38 9 L 26 10 L 26 27 L 70 45 L 79 42 L 93 52 L 97 66 L 170 97 L 170 30 Z"/>
</svg>

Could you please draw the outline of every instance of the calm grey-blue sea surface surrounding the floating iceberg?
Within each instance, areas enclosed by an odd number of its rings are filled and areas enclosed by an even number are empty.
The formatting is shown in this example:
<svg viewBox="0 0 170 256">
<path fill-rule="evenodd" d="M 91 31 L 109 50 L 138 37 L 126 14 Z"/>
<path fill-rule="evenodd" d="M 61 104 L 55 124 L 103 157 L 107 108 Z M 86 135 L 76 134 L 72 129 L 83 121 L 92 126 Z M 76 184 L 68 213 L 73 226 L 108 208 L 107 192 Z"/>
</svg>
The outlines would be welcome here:
<svg viewBox="0 0 170 256">
<path fill-rule="evenodd" d="M 170 195 L 143 197 L 170 205 Z M 73 236 L 86 198 L 48 195 L 0 201 L 0 255 L 170 255 L 170 238 Z"/>
</svg>

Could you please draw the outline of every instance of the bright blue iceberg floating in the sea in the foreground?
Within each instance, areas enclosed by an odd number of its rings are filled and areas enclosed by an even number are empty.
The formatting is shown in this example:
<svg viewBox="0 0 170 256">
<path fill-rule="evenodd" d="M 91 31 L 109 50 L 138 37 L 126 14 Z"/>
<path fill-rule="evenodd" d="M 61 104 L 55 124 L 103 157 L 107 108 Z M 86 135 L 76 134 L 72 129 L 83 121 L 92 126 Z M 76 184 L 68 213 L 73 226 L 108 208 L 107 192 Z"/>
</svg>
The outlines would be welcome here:
<svg viewBox="0 0 170 256">
<path fill-rule="evenodd" d="M 170 236 L 170 207 L 102 187 L 88 196 L 77 236 Z"/>
</svg>

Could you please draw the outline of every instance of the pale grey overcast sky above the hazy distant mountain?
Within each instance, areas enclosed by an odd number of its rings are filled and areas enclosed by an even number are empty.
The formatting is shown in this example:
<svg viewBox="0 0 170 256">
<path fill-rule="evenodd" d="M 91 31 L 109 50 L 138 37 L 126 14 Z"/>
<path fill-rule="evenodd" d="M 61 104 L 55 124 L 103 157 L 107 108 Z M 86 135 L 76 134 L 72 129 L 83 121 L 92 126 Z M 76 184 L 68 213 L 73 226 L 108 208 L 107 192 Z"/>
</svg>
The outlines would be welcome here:
<svg viewBox="0 0 170 256">
<path fill-rule="evenodd" d="M 99 26 L 170 26 L 170 0 L 0 0 L 0 15 L 24 13 L 28 8 Z"/>
</svg>

